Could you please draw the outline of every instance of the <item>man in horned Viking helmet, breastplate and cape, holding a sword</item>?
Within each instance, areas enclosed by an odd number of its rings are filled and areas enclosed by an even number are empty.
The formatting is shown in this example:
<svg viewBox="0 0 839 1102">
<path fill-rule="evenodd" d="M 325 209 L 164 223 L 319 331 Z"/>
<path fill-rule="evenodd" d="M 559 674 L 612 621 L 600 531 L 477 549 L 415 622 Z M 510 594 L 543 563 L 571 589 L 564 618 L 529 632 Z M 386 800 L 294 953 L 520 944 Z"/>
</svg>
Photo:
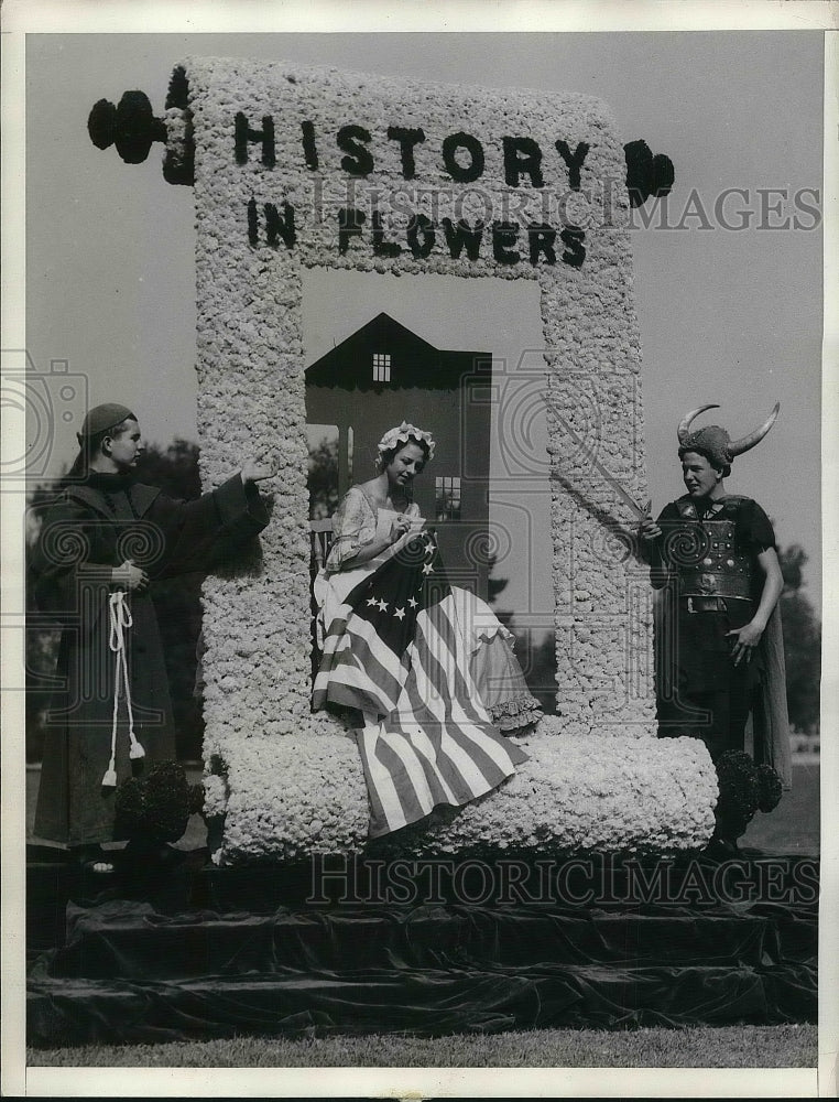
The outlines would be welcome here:
<svg viewBox="0 0 839 1102">
<path fill-rule="evenodd" d="M 719 425 L 678 426 L 678 455 L 687 493 L 657 521 L 641 522 L 650 548 L 656 607 L 656 704 L 660 736 L 701 738 L 716 763 L 747 749 L 791 787 L 784 649 L 777 599 L 783 577 L 775 534 L 763 509 L 729 494 L 723 479 L 736 456 L 766 435 L 776 404 L 755 432 L 731 440 Z"/>
</svg>

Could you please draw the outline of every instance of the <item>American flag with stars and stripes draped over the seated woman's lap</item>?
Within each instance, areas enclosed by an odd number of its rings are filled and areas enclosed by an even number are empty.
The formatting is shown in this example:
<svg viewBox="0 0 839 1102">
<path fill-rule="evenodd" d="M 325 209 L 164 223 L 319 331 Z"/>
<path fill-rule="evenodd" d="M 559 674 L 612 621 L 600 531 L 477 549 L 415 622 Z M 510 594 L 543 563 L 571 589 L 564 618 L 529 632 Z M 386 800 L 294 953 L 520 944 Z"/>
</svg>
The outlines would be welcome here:
<svg viewBox="0 0 839 1102">
<path fill-rule="evenodd" d="M 424 531 L 359 582 L 327 625 L 313 707 L 360 713 L 373 838 L 483 796 L 526 760 L 478 696 L 458 596 Z"/>
</svg>

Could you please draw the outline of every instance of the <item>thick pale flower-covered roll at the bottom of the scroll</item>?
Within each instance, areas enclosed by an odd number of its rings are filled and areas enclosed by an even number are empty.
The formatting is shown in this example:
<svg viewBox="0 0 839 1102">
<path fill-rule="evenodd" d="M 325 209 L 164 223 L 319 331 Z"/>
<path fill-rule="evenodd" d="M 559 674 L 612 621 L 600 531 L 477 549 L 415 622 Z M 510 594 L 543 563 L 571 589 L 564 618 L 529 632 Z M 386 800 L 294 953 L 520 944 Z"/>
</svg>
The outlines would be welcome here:
<svg viewBox="0 0 839 1102">
<path fill-rule="evenodd" d="M 298 736 L 243 737 L 225 775 L 205 779 L 206 813 L 225 815 L 216 863 L 293 862 L 368 846 L 410 855 L 532 849 L 666 853 L 701 849 L 713 832 L 717 775 L 695 738 L 564 735 L 546 716 L 519 744 L 529 760 L 488 796 L 370 843 L 351 731 L 313 716 Z M 281 778 L 272 785 L 266 777 Z"/>
</svg>

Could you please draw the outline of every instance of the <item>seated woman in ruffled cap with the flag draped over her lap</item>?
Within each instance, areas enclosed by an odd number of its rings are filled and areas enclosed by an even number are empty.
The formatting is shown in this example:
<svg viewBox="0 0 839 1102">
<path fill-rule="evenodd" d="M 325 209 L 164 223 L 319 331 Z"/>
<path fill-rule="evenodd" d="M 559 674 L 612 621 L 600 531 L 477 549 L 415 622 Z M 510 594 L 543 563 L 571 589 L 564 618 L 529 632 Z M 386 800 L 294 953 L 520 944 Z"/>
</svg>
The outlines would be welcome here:
<svg viewBox="0 0 839 1102">
<path fill-rule="evenodd" d="M 404 421 L 384 434 L 377 476 L 338 506 L 314 584 L 313 709 L 351 717 L 372 838 L 498 787 L 526 759 L 508 736 L 541 716 L 511 633 L 483 601 L 448 584 L 413 500 L 434 447 Z"/>
</svg>

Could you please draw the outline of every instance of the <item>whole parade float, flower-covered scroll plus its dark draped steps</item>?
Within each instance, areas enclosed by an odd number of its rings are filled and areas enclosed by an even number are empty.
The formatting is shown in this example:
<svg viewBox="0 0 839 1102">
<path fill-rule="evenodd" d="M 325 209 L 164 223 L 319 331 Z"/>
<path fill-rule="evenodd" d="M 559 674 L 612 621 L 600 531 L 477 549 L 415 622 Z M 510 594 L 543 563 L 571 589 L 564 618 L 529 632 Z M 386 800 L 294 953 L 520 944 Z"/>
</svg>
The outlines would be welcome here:
<svg viewBox="0 0 839 1102">
<path fill-rule="evenodd" d="M 584 96 L 197 57 L 160 117 L 127 93 L 89 132 L 129 163 L 164 143 L 194 188 L 205 489 L 254 452 L 277 474 L 259 547 L 204 586 L 200 867 L 66 889 L 31 1042 L 811 1019 L 815 865 L 704 857 L 717 771 L 655 734 L 629 214 L 667 159 Z M 312 712 L 317 268 L 531 281 L 541 306 L 556 715 L 509 780 L 383 847 L 351 731 Z"/>
</svg>

